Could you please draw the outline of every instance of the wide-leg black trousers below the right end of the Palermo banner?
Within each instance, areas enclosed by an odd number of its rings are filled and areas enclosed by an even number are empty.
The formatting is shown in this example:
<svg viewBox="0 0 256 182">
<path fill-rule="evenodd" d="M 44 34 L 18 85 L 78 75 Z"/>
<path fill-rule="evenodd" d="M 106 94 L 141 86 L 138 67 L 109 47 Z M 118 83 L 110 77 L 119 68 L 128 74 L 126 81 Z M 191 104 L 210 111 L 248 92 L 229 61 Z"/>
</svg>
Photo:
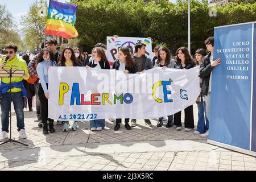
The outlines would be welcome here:
<svg viewBox="0 0 256 182">
<path fill-rule="evenodd" d="M 184 109 L 185 111 L 185 127 L 193 129 L 194 126 L 194 114 L 193 114 L 193 105 L 188 106 Z M 181 111 L 174 114 L 174 125 L 181 126 Z"/>
</svg>

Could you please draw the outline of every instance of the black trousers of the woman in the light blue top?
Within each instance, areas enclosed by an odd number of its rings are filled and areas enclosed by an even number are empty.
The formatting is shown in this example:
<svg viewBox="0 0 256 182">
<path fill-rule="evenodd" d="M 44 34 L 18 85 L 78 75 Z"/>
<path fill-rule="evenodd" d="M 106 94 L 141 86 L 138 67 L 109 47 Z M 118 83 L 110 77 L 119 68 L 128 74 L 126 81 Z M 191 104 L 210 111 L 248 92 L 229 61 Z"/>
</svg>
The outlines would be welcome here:
<svg viewBox="0 0 256 182">
<path fill-rule="evenodd" d="M 48 84 L 46 84 L 48 88 Z M 48 99 L 44 95 L 44 90 L 41 84 L 39 84 L 39 89 L 38 89 L 38 97 L 40 100 L 41 104 L 41 118 L 42 122 L 46 123 L 48 119 Z M 49 121 L 54 121 L 53 119 L 49 119 Z"/>
</svg>

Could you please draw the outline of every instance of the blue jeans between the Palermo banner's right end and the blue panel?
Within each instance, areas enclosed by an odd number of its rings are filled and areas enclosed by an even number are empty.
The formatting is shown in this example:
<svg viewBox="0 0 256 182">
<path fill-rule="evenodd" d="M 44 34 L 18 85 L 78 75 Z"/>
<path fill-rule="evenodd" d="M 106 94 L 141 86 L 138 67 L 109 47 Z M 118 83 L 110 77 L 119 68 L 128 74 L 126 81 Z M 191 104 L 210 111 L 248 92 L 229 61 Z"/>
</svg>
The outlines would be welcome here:
<svg viewBox="0 0 256 182">
<path fill-rule="evenodd" d="M 205 102 L 203 102 L 203 98 L 201 98 L 200 104 L 197 104 L 198 108 L 198 122 L 197 129 L 200 133 L 205 133 L 209 129 L 209 121 L 207 118 L 207 112 L 205 107 Z"/>
</svg>

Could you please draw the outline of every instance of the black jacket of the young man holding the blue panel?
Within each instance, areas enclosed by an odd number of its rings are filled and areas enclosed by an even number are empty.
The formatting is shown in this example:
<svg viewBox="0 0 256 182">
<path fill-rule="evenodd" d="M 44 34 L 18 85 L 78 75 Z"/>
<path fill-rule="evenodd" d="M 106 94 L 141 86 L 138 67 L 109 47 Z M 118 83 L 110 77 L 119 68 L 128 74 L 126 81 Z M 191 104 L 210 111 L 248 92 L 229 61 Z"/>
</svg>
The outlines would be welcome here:
<svg viewBox="0 0 256 182">
<path fill-rule="evenodd" d="M 213 67 L 210 65 L 210 52 L 204 56 L 200 65 L 200 77 L 203 78 L 202 92 L 207 96 L 209 90 L 210 73 Z"/>
</svg>

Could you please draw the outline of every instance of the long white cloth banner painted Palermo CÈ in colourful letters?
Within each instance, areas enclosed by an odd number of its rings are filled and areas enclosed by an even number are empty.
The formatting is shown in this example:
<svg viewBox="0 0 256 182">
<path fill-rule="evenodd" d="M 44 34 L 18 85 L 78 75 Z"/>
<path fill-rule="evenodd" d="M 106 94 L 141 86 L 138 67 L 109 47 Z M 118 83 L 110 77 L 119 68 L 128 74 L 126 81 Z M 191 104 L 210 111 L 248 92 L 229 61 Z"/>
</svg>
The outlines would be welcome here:
<svg viewBox="0 0 256 182">
<path fill-rule="evenodd" d="M 153 119 L 195 104 L 199 68 L 154 68 L 141 74 L 82 68 L 49 68 L 49 118 L 82 121 Z"/>
</svg>

